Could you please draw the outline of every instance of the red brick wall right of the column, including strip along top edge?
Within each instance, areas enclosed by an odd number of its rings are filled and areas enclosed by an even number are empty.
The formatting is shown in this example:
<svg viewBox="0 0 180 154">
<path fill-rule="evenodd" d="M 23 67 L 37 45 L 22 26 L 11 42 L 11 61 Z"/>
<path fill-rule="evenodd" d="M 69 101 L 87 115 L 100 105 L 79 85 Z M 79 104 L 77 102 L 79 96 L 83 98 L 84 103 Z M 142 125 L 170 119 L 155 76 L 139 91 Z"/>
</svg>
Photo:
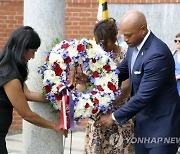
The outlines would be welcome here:
<svg viewBox="0 0 180 154">
<path fill-rule="evenodd" d="M 179 3 L 180 0 L 107 0 L 108 4 Z M 65 38 L 93 37 L 98 0 L 66 0 Z"/>
</svg>

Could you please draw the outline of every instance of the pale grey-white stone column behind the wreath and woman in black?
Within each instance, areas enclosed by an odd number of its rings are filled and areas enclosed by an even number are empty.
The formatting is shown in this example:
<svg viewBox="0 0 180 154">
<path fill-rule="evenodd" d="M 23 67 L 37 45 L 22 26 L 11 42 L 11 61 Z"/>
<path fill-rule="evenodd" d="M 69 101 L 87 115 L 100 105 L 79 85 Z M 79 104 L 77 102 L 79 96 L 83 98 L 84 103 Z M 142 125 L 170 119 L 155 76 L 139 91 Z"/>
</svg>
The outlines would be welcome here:
<svg viewBox="0 0 180 154">
<path fill-rule="evenodd" d="M 31 26 L 41 38 L 35 59 L 29 62 L 29 89 L 42 92 L 41 76 L 37 73 L 45 59 L 45 52 L 53 40 L 64 37 L 64 0 L 24 0 L 24 25 Z M 29 102 L 31 109 L 45 119 L 58 122 L 58 114 L 51 113 L 48 103 Z M 63 136 L 23 121 L 23 154 L 61 154 Z"/>
</svg>

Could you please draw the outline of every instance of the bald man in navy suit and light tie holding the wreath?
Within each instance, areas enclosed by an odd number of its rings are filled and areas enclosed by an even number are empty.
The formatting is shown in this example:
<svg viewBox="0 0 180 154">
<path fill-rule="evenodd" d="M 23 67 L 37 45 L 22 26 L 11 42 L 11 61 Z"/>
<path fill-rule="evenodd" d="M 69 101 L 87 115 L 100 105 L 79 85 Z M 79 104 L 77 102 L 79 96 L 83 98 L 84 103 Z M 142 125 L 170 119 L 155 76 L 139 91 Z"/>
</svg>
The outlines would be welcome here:
<svg viewBox="0 0 180 154">
<path fill-rule="evenodd" d="M 132 97 L 114 113 L 101 116 L 95 126 L 108 127 L 115 121 L 123 125 L 135 117 L 136 154 L 175 154 L 180 140 L 180 97 L 171 51 L 148 30 L 142 12 L 128 11 L 120 23 L 129 48 L 118 66 L 119 81 L 130 78 Z"/>
</svg>

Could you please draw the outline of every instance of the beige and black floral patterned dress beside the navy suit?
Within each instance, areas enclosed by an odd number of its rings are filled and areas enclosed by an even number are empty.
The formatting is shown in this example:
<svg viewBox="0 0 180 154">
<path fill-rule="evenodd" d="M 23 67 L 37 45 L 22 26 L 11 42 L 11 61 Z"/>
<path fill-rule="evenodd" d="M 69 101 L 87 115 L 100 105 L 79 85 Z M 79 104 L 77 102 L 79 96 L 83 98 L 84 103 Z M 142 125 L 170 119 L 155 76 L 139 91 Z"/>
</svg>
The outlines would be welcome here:
<svg viewBox="0 0 180 154">
<path fill-rule="evenodd" d="M 123 52 L 115 54 L 114 60 L 119 63 Z M 122 106 L 127 97 L 119 106 Z M 109 128 L 94 127 L 94 121 L 89 119 L 86 128 L 84 154 L 134 154 L 134 145 L 130 142 L 133 137 L 133 121 L 130 119 L 126 124 L 119 126 L 114 123 Z"/>
</svg>

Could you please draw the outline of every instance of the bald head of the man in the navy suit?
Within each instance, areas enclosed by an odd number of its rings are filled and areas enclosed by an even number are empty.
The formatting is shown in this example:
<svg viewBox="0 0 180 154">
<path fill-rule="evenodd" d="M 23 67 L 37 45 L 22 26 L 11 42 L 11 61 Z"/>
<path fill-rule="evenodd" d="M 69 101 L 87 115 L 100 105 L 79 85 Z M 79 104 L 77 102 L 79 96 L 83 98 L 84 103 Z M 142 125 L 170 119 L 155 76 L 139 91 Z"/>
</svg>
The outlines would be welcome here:
<svg viewBox="0 0 180 154">
<path fill-rule="evenodd" d="M 146 17 L 138 10 L 128 11 L 120 22 L 121 33 L 130 47 L 137 46 L 148 33 Z"/>
</svg>

